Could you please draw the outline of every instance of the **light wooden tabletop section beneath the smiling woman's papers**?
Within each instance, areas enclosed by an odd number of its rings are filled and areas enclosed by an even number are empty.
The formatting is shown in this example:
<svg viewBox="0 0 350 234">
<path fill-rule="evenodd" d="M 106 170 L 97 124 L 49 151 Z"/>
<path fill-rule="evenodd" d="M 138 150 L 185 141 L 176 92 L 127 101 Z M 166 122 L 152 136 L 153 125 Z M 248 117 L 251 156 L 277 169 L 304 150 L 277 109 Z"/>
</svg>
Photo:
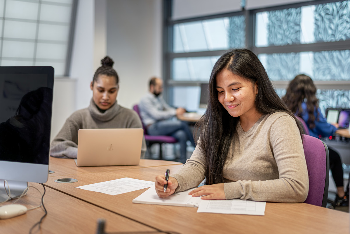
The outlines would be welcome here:
<svg viewBox="0 0 350 234">
<path fill-rule="evenodd" d="M 181 165 L 143 167 L 127 170 L 76 174 L 75 183 L 56 183 L 51 176 L 45 186 L 70 194 L 144 225 L 178 233 L 321 233 L 349 232 L 349 213 L 306 203 L 267 202 L 264 216 L 196 213 L 197 208 L 132 203 L 146 189 L 119 195 L 107 195 L 75 188 L 124 177 L 154 181 L 170 169 L 170 175 Z"/>
</svg>

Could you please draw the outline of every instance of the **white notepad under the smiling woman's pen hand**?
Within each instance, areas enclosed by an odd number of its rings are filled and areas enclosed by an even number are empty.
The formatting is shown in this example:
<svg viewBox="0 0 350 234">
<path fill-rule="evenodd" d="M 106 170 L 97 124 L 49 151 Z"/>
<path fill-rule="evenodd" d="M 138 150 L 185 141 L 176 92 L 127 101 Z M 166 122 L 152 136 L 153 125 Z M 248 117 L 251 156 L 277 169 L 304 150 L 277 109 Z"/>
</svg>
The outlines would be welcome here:
<svg viewBox="0 0 350 234">
<path fill-rule="evenodd" d="M 132 202 L 168 206 L 198 207 L 199 203 L 201 202 L 201 198 L 198 196 L 188 195 L 188 192 L 191 190 L 193 190 L 193 188 L 183 192 L 174 193 L 167 198 L 160 198 L 155 192 L 155 187 L 152 186 L 140 196 L 132 200 Z"/>
</svg>

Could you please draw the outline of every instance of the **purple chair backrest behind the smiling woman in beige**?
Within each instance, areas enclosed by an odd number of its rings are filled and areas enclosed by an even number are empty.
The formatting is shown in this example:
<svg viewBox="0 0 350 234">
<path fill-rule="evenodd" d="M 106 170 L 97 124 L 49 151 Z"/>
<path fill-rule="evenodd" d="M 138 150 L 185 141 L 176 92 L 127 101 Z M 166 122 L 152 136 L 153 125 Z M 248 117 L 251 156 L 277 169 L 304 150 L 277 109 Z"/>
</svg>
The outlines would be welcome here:
<svg viewBox="0 0 350 234">
<path fill-rule="evenodd" d="M 303 134 L 303 146 L 309 174 L 309 193 L 305 203 L 326 207 L 329 183 L 329 152 L 318 138 Z"/>
</svg>

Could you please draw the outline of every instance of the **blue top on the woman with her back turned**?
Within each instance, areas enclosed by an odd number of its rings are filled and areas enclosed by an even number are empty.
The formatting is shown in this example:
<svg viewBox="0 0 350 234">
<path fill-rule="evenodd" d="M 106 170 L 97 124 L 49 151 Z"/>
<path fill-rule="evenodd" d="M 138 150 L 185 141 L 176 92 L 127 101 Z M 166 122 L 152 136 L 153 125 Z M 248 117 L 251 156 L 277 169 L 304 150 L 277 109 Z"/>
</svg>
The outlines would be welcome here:
<svg viewBox="0 0 350 234">
<path fill-rule="evenodd" d="M 325 137 L 325 136 L 328 137 L 333 135 L 333 133 L 337 130 L 335 126 L 331 125 L 330 123 L 327 123 L 326 119 L 323 117 L 321 113 L 320 108 L 317 108 L 314 111 L 315 128 L 311 129 L 309 126 L 309 123 L 307 122 L 309 120 L 309 113 L 307 111 L 306 103 L 302 102 L 301 107 L 303 108 L 303 111 L 299 115 L 303 118 L 307 127 L 309 128 L 310 136 L 314 136 L 316 138 L 318 138 L 319 135 L 321 135 L 321 137 Z"/>
</svg>

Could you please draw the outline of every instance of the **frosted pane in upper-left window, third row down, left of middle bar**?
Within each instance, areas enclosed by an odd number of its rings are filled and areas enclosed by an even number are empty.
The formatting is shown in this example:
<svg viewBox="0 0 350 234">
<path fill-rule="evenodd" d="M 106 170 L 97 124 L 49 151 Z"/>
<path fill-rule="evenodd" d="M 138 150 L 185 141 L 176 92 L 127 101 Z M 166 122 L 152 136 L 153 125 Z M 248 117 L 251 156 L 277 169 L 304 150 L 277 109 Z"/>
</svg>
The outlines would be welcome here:
<svg viewBox="0 0 350 234">
<path fill-rule="evenodd" d="M 2 57 L 33 58 L 34 42 L 3 41 Z"/>
</svg>

